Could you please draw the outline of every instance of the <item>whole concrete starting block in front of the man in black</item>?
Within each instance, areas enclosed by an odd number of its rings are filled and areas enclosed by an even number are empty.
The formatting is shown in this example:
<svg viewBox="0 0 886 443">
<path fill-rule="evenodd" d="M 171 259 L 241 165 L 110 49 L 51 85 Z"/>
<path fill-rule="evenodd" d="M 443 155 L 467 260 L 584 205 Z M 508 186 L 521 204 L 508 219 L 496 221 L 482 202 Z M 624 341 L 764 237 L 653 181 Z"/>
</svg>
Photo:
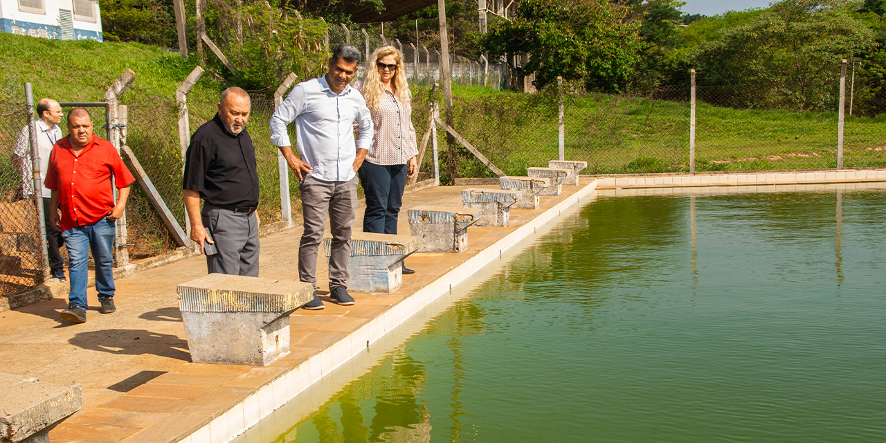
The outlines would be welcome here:
<svg viewBox="0 0 886 443">
<path fill-rule="evenodd" d="M 178 295 L 191 361 L 265 366 L 289 354 L 289 315 L 314 287 L 210 274 L 179 284 Z"/>
</svg>

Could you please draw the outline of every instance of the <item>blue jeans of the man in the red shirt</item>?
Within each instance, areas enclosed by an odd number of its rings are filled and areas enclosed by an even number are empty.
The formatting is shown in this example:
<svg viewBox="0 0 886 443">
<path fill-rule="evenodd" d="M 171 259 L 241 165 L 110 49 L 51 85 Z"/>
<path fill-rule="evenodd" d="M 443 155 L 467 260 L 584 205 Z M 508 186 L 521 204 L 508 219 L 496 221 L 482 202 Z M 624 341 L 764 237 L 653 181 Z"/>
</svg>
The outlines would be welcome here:
<svg viewBox="0 0 886 443">
<path fill-rule="evenodd" d="M 68 307 L 82 307 L 86 310 L 86 283 L 89 280 L 89 249 L 96 261 L 96 290 L 98 301 L 113 297 L 113 241 L 116 232 L 113 221 L 106 217 L 95 224 L 78 226 L 62 231 L 68 256 L 68 281 L 71 293 Z"/>
</svg>

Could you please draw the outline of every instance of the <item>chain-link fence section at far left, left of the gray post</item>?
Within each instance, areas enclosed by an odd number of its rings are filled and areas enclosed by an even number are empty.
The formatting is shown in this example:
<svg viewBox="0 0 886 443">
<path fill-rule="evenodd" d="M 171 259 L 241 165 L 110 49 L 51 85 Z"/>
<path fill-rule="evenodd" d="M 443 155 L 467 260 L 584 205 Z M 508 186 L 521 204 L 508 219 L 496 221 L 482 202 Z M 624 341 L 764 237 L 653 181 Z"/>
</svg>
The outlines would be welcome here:
<svg viewBox="0 0 886 443">
<path fill-rule="evenodd" d="M 40 284 L 45 268 L 23 90 L 15 79 L 0 81 L 0 296 Z"/>
</svg>

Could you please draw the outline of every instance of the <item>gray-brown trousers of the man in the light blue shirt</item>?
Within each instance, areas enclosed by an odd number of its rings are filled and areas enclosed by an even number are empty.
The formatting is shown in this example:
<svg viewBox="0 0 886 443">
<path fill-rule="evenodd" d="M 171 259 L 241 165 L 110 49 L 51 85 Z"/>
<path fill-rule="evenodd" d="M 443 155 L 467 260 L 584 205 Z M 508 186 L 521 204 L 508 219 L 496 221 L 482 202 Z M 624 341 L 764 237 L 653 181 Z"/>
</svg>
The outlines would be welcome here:
<svg viewBox="0 0 886 443">
<path fill-rule="evenodd" d="M 347 288 L 351 261 L 351 229 L 357 213 L 357 177 L 348 182 L 323 182 L 307 175 L 299 183 L 305 232 L 299 244 L 299 280 L 317 287 L 317 250 L 330 215 L 332 245 L 330 291 Z"/>
</svg>

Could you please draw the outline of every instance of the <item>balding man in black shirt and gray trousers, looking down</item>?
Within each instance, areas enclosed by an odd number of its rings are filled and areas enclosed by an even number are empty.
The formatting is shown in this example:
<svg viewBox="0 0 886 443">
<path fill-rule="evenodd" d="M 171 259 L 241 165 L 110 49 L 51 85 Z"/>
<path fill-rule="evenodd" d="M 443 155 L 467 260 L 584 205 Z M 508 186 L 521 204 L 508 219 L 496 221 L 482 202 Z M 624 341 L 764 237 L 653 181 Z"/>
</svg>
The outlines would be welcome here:
<svg viewBox="0 0 886 443">
<path fill-rule="evenodd" d="M 190 137 L 184 207 L 190 239 L 203 246 L 210 274 L 259 276 L 259 175 L 246 131 L 249 112 L 245 90 L 225 89 L 214 119 Z"/>
</svg>

